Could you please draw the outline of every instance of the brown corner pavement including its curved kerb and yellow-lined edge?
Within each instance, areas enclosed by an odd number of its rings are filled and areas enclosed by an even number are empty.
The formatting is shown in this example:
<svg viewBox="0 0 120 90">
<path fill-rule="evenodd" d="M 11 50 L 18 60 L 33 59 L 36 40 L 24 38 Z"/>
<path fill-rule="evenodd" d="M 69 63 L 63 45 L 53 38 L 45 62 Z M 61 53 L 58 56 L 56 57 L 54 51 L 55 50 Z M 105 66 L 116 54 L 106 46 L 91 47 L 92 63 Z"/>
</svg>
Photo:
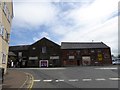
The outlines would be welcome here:
<svg viewBox="0 0 120 90">
<path fill-rule="evenodd" d="M 8 69 L 4 76 L 4 82 L 2 84 L 2 90 L 16 89 L 31 89 L 33 85 L 33 76 L 29 73 L 19 70 Z"/>
</svg>

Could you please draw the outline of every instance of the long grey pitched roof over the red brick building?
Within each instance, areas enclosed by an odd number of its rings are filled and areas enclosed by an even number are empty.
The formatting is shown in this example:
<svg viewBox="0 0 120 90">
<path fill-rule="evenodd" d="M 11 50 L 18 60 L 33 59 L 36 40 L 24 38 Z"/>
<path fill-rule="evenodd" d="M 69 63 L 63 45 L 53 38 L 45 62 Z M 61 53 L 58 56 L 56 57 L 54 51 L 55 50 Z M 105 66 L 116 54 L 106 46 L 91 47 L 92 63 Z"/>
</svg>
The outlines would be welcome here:
<svg viewBox="0 0 120 90">
<path fill-rule="evenodd" d="M 61 49 L 109 48 L 103 42 L 62 42 Z"/>
</svg>

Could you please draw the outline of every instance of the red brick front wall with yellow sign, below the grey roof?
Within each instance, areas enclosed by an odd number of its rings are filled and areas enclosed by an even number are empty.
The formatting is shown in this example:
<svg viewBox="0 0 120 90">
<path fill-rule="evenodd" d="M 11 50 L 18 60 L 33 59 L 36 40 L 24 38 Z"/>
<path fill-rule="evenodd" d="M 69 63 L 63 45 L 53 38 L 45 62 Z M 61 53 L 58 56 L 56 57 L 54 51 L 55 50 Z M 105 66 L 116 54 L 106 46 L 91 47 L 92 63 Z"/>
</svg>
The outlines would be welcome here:
<svg viewBox="0 0 120 90">
<path fill-rule="evenodd" d="M 111 64 L 110 48 L 62 50 L 63 66 L 104 65 Z"/>
</svg>

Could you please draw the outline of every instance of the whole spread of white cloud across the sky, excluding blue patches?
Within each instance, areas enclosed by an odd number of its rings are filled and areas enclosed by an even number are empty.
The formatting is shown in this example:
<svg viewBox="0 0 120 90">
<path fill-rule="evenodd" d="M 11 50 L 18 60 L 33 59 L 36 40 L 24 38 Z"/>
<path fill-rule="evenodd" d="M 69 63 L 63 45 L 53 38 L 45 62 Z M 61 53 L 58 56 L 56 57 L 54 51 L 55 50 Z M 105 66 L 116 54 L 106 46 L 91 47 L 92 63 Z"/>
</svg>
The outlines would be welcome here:
<svg viewBox="0 0 120 90">
<path fill-rule="evenodd" d="M 44 24 L 51 30 L 39 30 L 37 36 L 33 37 L 34 41 L 42 37 L 51 38 L 49 33 L 51 32 L 58 37 L 61 36 L 60 42 L 103 41 L 112 48 L 113 53 L 117 52 L 118 20 L 117 17 L 112 18 L 112 15 L 117 12 L 119 0 L 94 0 L 94 2 L 80 0 L 81 6 L 78 4 L 75 7 L 75 3 L 71 4 L 71 7 L 74 6 L 74 8 L 64 12 L 61 7 L 49 2 L 51 0 L 48 2 L 26 1 L 27 3 L 24 1 L 14 3 L 13 26 L 28 28 L 34 32 L 35 28 Z M 60 1 L 68 2 L 67 0 L 57 0 L 57 2 Z"/>
</svg>

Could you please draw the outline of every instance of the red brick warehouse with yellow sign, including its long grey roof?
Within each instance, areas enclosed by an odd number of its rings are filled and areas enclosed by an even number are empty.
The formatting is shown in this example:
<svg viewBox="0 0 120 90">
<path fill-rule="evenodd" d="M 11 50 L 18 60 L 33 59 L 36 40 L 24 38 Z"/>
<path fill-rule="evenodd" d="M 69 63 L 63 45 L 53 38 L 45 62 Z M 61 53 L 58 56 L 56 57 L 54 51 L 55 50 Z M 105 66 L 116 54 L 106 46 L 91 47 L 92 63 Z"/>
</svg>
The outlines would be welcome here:
<svg viewBox="0 0 120 90">
<path fill-rule="evenodd" d="M 110 47 L 103 42 L 62 42 L 62 65 L 104 65 L 111 64 Z"/>
</svg>

